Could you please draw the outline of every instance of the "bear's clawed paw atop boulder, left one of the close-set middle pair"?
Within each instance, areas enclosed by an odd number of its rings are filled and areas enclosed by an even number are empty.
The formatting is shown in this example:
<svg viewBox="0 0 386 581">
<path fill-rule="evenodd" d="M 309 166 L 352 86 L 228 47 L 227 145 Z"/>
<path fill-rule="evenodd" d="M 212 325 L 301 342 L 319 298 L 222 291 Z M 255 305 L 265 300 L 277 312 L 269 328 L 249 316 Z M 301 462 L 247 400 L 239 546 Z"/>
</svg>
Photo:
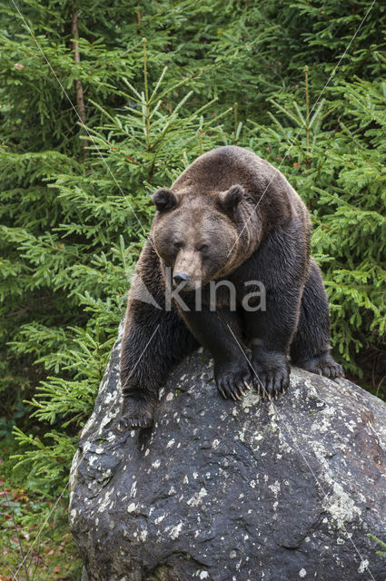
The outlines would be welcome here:
<svg viewBox="0 0 386 581">
<path fill-rule="evenodd" d="M 214 379 L 217 389 L 224 399 L 242 399 L 245 396 L 245 390 L 251 389 L 252 369 L 249 362 L 237 360 L 232 362 L 214 362 Z"/>
</svg>

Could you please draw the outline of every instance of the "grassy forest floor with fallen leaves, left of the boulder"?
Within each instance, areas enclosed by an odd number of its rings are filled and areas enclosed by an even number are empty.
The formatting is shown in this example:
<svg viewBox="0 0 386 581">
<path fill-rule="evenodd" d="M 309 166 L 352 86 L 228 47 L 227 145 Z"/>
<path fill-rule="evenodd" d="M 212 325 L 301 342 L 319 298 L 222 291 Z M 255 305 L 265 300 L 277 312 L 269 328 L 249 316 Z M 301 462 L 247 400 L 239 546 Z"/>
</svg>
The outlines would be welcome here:
<svg viewBox="0 0 386 581">
<path fill-rule="evenodd" d="M 82 563 L 68 529 L 68 500 L 54 506 L 55 499 L 27 494 L 25 474 L 13 469 L 10 458 L 17 450 L 12 439 L 0 444 L 0 581 L 80 581 Z"/>
</svg>

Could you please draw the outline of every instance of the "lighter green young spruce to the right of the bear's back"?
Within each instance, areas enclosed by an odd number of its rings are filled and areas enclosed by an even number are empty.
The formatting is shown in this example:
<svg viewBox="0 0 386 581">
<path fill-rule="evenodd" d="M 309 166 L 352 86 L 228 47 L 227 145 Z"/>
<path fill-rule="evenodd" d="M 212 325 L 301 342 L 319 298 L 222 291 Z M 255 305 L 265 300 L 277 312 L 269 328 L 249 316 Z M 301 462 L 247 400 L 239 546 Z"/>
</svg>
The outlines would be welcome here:
<svg viewBox="0 0 386 581">
<path fill-rule="evenodd" d="M 345 369 L 361 376 L 355 354 L 363 346 L 374 347 L 375 361 L 384 357 L 386 84 L 342 82 L 331 93 L 344 98 L 321 100 L 307 123 L 306 78 L 298 101 L 272 101 L 277 113 L 269 127 L 258 125 L 252 147 L 270 150 L 265 156 L 282 164 L 312 212 L 312 253 L 326 274 L 333 342 Z M 337 125 L 329 130 L 332 118 Z"/>
</svg>

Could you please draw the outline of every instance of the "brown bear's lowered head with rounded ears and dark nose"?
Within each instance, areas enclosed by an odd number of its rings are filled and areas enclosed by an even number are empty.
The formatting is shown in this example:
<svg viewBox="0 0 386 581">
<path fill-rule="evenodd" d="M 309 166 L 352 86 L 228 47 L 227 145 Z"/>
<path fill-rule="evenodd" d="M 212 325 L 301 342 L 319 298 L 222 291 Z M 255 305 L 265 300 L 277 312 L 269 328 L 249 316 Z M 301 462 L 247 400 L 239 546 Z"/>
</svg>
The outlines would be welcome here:
<svg viewBox="0 0 386 581">
<path fill-rule="evenodd" d="M 157 212 L 152 235 L 155 251 L 172 271 L 173 285 L 193 291 L 226 276 L 240 246 L 241 185 L 226 192 L 182 193 L 161 188 L 153 194 Z"/>
</svg>

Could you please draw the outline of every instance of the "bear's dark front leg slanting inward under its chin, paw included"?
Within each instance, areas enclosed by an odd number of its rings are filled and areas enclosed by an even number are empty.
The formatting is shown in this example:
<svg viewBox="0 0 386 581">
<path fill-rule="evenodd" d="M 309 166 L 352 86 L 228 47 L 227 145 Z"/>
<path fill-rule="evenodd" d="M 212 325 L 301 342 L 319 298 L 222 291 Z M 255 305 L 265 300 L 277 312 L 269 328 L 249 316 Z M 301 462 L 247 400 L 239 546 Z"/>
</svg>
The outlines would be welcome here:
<svg viewBox="0 0 386 581">
<path fill-rule="evenodd" d="M 242 399 L 253 384 L 252 367 L 242 348 L 241 330 L 236 312 L 182 311 L 181 315 L 196 340 L 211 352 L 214 380 L 224 399 Z"/>
</svg>

